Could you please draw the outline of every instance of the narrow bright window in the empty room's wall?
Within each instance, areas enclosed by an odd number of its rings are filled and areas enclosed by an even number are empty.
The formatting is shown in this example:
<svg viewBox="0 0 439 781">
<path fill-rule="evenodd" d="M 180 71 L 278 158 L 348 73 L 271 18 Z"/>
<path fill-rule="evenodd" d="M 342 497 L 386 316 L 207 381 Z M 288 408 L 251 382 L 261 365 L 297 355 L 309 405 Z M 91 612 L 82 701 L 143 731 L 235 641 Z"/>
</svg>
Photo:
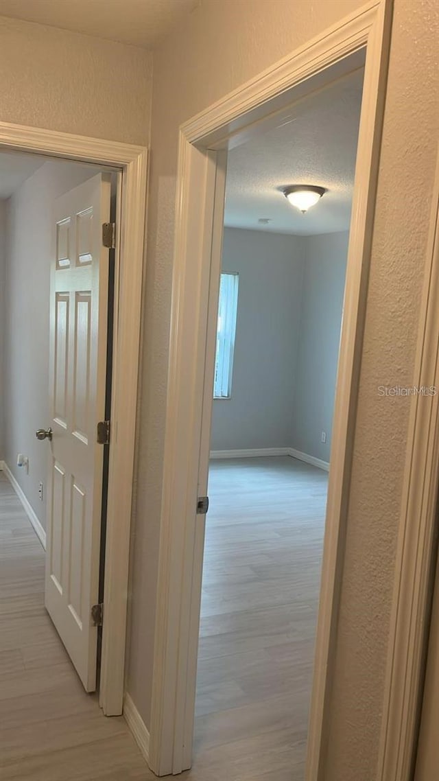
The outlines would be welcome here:
<svg viewBox="0 0 439 781">
<path fill-rule="evenodd" d="M 237 315 L 237 274 L 221 274 L 213 398 L 230 398 Z"/>
</svg>

